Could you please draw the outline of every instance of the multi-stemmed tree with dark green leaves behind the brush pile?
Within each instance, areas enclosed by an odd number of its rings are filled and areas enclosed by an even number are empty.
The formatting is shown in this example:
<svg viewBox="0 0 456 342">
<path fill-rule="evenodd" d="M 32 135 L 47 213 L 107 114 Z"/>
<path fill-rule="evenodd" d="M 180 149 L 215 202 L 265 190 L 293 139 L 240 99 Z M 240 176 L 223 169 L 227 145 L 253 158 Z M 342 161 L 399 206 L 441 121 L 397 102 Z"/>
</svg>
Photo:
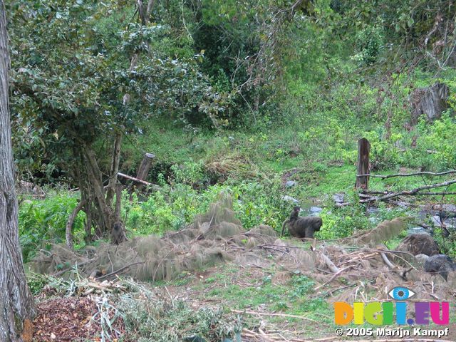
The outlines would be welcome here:
<svg viewBox="0 0 456 342">
<path fill-rule="evenodd" d="M 11 113 L 21 145 L 17 164 L 53 167 L 59 181 L 79 187 L 86 242 L 93 229 L 102 237 L 118 220 L 114 205 L 123 136 L 142 131 L 141 123 L 150 125 L 152 115 L 182 115 L 210 100 L 197 56 L 180 59 L 164 51 L 160 38 L 169 29 L 150 21 L 152 5 L 8 4 L 15 56 Z"/>
</svg>

